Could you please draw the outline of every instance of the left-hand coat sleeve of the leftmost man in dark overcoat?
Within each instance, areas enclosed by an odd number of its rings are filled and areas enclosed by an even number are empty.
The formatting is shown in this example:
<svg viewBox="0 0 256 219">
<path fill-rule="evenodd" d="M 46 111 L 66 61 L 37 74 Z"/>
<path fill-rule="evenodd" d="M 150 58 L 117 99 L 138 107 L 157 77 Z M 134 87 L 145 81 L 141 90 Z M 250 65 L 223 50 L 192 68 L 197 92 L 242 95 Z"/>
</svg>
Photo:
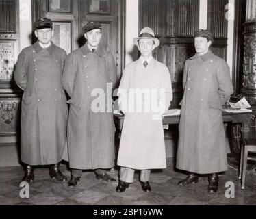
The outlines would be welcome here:
<svg viewBox="0 0 256 219">
<path fill-rule="evenodd" d="M 19 88 L 25 90 L 27 86 L 27 71 L 29 68 L 29 62 L 25 51 L 21 51 L 18 55 L 18 62 L 16 63 L 14 70 L 14 80 Z"/>
</svg>

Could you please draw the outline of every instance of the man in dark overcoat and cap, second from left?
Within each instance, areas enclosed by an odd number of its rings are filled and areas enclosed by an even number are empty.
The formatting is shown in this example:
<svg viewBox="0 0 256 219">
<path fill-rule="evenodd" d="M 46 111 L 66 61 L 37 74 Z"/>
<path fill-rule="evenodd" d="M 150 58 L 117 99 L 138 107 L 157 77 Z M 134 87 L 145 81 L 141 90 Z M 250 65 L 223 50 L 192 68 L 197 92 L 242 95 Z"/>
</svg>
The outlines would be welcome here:
<svg viewBox="0 0 256 219">
<path fill-rule="evenodd" d="M 68 55 L 62 77 L 71 97 L 66 157 L 71 167 L 71 187 L 80 181 L 84 169 L 94 170 L 99 180 L 116 181 L 107 175 L 107 169 L 114 166 L 115 154 L 112 89 L 117 80 L 116 64 L 112 53 L 99 45 L 100 23 L 89 22 L 83 32 L 87 42 Z"/>
</svg>

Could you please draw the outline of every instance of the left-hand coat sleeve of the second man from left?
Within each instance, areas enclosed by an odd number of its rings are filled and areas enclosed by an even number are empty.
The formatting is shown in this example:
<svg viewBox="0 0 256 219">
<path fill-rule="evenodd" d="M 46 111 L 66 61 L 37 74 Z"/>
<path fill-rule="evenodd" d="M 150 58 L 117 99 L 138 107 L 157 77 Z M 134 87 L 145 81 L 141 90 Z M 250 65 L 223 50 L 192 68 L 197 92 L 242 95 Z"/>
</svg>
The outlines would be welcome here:
<svg viewBox="0 0 256 219">
<path fill-rule="evenodd" d="M 77 60 L 73 53 L 70 53 L 66 57 L 64 70 L 62 73 L 62 86 L 64 90 L 68 93 L 68 96 L 71 97 L 73 94 L 73 88 L 75 84 L 75 75 L 77 73 Z"/>
</svg>

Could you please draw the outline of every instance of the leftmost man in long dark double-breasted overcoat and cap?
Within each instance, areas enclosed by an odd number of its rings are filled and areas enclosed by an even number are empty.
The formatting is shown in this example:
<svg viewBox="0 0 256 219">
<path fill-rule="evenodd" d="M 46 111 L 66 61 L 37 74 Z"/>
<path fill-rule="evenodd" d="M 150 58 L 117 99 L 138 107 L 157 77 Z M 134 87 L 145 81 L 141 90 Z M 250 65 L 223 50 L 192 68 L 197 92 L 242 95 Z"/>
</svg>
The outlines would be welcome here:
<svg viewBox="0 0 256 219">
<path fill-rule="evenodd" d="M 66 52 L 51 41 L 53 24 L 42 18 L 34 23 L 38 41 L 21 51 L 14 79 L 24 90 L 21 102 L 22 181 L 34 181 L 34 165 L 50 165 L 50 177 L 66 181 L 59 168 L 66 147 L 68 107 L 62 88 Z"/>
</svg>

